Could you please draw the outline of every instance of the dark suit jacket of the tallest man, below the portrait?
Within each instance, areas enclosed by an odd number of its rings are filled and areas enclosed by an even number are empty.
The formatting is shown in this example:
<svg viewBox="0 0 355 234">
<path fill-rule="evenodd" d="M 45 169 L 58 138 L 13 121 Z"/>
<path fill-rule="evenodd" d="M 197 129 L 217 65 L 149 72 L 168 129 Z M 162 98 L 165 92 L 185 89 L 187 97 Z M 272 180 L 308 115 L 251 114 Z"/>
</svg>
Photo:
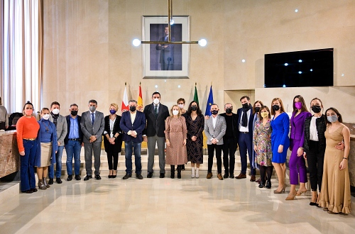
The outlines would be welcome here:
<svg viewBox="0 0 355 234">
<path fill-rule="evenodd" d="M 148 137 L 158 135 L 158 137 L 165 137 L 165 119 L 170 116 L 167 106 L 159 104 L 158 117 L 155 118 L 154 104 L 149 104 L 144 107 L 143 113 L 146 115 L 146 130 L 144 130 L 143 135 Z"/>
</svg>

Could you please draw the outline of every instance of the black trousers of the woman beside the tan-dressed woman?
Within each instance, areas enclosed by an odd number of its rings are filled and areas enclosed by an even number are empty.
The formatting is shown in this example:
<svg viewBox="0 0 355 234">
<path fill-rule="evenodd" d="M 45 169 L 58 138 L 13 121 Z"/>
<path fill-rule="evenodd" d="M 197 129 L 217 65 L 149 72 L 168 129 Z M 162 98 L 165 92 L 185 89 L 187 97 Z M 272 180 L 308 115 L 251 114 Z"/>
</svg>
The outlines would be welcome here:
<svg viewBox="0 0 355 234">
<path fill-rule="evenodd" d="M 324 165 L 324 150 L 318 150 L 319 142 L 310 140 L 310 150 L 306 152 L 308 170 L 310 171 L 310 184 L 312 191 L 321 190 L 322 177 L 323 177 L 323 165 Z"/>
</svg>

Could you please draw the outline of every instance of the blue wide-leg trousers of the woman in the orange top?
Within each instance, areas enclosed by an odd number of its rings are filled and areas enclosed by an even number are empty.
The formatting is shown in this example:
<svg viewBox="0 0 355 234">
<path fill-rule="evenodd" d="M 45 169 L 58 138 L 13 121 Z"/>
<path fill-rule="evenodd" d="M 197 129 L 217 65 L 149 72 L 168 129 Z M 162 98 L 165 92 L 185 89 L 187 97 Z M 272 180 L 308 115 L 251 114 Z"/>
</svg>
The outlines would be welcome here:
<svg viewBox="0 0 355 234">
<path fill-rule="evenodd" d="M 37 142 L 35 140 L 23 140 L 25 155 L 20 155 L 21 160 L 21 191 L 35 189 L 35 153 Z"/>
</svg>

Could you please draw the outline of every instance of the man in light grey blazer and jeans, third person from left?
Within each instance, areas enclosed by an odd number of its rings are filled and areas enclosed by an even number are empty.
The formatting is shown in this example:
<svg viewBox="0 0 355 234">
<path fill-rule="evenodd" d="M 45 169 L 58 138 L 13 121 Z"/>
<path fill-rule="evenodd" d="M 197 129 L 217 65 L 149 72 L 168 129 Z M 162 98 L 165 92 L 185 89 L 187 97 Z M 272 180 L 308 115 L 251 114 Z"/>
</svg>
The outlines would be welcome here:
<svg viewBox="0 0 355 234">
<path fill-rule="evenodd" d="M 62 153 L 64 150 L 64 138 L 67 136 L 67 119 L 59 114 L 60 104 L 58 101 L 53 101 L 50 104 L 50 116 L 49 120 L 54 123 L 57 128 L 58 137 L 58 151 L 55 154 L 55 174 L 53 163 L 49 166 L 49 182 L 48 184 L 53 184 L 53 178 L 55 175 L 55 181 L 58 184 L 62 184 L 60 175 L 62 174 Z M 53 143 L 54 144 L 54 143 Z"/>
</svg>

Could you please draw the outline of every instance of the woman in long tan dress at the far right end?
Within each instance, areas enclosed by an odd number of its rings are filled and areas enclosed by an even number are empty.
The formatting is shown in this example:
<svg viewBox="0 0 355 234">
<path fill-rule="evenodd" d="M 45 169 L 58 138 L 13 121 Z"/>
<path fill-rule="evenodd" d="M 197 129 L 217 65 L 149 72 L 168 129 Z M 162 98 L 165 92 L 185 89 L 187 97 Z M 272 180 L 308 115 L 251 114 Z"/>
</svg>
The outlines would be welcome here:
<svg viewBox="0 0 355 234">
<path fill-rule="evenodd" d="M 348 169 L 350 151 L 350 130 L 342 123 L 342 115 L 336 108 L 325 111 L 327 116 L 326 148 L 322 191 L 318 204 L 328 213 L 350 213 L 351 195 Z M 344 151 L 335 146 L 344 140 Z"/>
</svg>

